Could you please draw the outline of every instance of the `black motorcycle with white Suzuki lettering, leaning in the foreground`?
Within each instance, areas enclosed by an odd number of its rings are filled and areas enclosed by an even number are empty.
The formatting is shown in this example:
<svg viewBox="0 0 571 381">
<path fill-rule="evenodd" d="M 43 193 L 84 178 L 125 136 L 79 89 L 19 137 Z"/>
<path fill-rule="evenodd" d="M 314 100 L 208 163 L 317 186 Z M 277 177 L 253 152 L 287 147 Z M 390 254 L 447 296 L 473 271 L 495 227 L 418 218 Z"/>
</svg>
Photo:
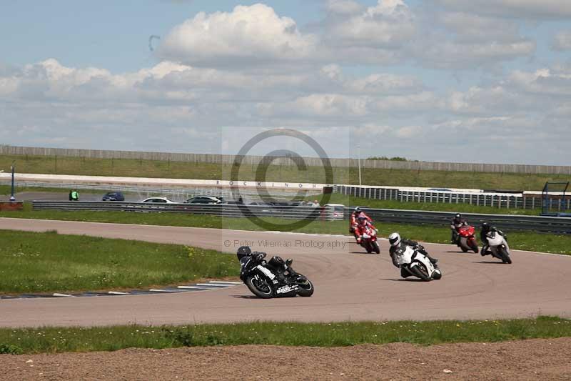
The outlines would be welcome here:
<svg viewBox="0 0 571 381">
<path fill-rule="evenodd" d="M 240 279 L 254 295 L 263 299 L 313 295 L 313 283 L 291 268 L 293 259 L 272 257 L 266 262 L 265 258 L 265 252 L 253 252 L 240 259 Z"/>
</svg>

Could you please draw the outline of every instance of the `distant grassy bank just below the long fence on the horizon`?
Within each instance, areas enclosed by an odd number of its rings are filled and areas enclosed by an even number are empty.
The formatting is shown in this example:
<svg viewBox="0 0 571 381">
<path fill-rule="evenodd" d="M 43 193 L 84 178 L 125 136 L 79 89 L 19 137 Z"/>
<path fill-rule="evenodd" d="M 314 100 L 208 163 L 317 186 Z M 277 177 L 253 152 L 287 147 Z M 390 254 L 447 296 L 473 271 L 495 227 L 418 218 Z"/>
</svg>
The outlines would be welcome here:
<svg viewBox="0 0 571 381">
<path fill-rule="evenodd" d="M 171 177 L 183 179 L 229 179 L 231 165 L 189 162 L 161 162 L 137 159 L 85 159 L 81 157 L 43 157 L 0 155 L 0 169 L 9 169 L 16 162 L 21 173 L 83 174 L 91 176 Z M 256 173 L 262 174 L 260 178 Z M 334 168 L 336 184 L 358 184 L 356 168 Z M 240 179 L 269 182 L 324 183 L 321 167 L 269 166 L 262 170 L 244 165 Z M 475 189 L 541 190 L 547 181 L 569 181 L 557 174 L 498 174 L 480 172 L 414 171 L 403 169 L 363 169 L 363 184 L 399 187 L 455 187 Z"/>
</svg>

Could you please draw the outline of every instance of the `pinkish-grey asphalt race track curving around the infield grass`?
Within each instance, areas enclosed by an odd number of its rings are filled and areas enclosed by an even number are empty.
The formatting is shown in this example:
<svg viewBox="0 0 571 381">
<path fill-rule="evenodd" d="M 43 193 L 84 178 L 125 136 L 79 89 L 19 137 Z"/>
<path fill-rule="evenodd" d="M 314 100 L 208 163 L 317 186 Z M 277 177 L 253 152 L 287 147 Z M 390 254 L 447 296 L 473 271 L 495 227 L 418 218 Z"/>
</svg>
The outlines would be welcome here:
<svg viewBox="0 0 571 381">
<path fill-rule="evenodd" d="M 1 327 L 571 317 L 571 257 L 562 255 L 512 251 L 513 264 L 507 265 L 490 256 L 463 254 L 450 245 L 425 244 L 443 270 L 443 279 L 426 283 L 400 279 L 386 241 L 375 255 L 342 236 L 7 218 L 0 218 L 0 229 L 57 229 L 60 234 L 225 252 L 248 243 L 293 258 L 293 268 L 315 283 L 313 297 L 274 300 L 257 299 L 243 285 L 176 295 L 0 300 Z"/>
</svg>

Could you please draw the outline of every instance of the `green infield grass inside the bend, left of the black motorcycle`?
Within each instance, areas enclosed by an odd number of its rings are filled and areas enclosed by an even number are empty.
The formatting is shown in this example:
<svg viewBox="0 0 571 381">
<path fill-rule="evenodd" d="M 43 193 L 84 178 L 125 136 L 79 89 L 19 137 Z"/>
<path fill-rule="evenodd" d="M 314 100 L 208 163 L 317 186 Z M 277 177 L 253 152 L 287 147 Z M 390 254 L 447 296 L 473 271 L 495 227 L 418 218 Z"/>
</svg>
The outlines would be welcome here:
<svg viewBox="0 0 571 381">
<path fill-rule="evenodd" d="M 0 293 L 121 290 L 237 277 L 213 250 L 56 232 L 0 230 Z"/>
</svg>

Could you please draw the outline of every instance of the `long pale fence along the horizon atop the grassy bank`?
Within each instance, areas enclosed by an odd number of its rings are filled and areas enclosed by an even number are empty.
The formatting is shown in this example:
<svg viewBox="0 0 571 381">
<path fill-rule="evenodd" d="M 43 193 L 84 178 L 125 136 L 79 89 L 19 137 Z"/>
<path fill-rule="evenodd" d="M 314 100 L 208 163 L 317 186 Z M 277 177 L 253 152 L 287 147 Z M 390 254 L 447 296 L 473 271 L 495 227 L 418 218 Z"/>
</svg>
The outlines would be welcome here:
<svg viewBox="0 0 571 381">
<path fill-rule="evenodd" d="M 135 152 L 135 151 L 106 151 L 101 149 L 65 149 L 65 148 L 39 148 L 14 147 L 0 145 L 0 154 L 19 154 L 31 156 L 61 156 L 86 157 L 89 159 L 143 159 L 143 160 L 170 160 L 171 162 L 201 162 L 213 164 L 233 164 L 234 155 L 215 154 L 176 154 L 171 152 Z M 256 165 L 263 157 L 243 157 L 242 164 Z M 322 166 L 321 159 L 317 157 L 303 158 L 310 167 Z M 333 167 L 357 167 L 356 159 L 330 159 Z M 292 165 L 295 160 L 280 157 L 273 164 Z M 569 174 L 571 166 L 555 165 L 524 165 L 524 164 L 475 164 L 475 163 L 444 163 L 444 162 L 393 162 L 390 160 L 362 160 L 363 168 L 379 169 L 413 169 L 430 171 L 459 171 L 459 172 L 505 172 L 527 174 Z"/>
</svg>

